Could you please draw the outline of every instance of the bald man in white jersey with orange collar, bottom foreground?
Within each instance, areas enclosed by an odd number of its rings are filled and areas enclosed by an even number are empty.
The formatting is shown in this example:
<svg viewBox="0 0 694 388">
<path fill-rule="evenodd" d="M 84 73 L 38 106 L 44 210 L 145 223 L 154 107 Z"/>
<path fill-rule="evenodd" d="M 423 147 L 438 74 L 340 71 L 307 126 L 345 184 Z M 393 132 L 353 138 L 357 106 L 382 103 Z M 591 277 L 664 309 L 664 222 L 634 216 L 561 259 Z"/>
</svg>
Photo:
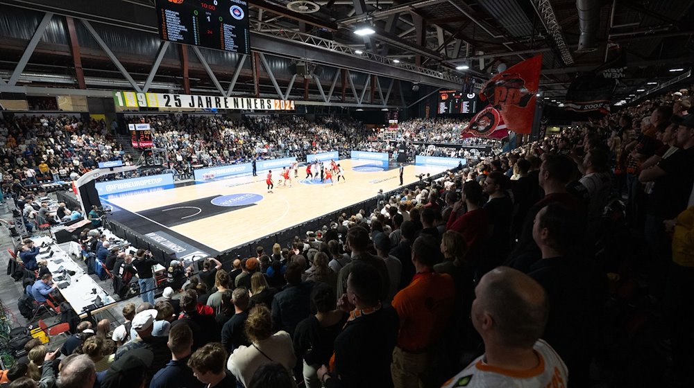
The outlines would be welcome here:
<svg viewBox="0 0 694 388">
<path fill-rule="evenodd" d="M 497 267 L 482 276 L 475 294 L 471 317 L 485 353 L 443 387 L 566 387 L 566 365 L 539 339 L 548 317 L 542 286 Z"/>
</svg>

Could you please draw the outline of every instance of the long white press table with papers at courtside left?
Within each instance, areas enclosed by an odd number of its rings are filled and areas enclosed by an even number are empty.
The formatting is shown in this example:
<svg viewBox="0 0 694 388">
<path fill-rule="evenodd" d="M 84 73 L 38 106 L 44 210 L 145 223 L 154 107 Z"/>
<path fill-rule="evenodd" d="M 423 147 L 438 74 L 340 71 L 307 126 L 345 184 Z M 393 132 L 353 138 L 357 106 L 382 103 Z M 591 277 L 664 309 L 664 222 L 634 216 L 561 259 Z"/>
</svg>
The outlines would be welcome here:
<svg viewBox="0 0 694 388">
<path fill-rule="evenodd" d="M 97 296 L 101 297 L 101 301 L 104 305 L 115 302 L 108 292 L 105 292 L 105 290 L 101 288 L 101 285 L 96 283 L 94 279 L 85 273 L 83 267 L 78 265 L 78 263 L 76 263 L 65 251 L 60 249 L 57 244 L 53 243 L 50 237 L 38 237 L 32 238 L 31 240 L 33 240 L 38 247 L 43 243 L 50 244 L 53 250 L 53 256 L 48 257 L 47 254 L 39 254 L 36 256 L 36 259 L 47 261 L 48 269 L 54 277 L 62 276 L 60 267 L 75 272 L 74 276 L 70 276 L 70 285 L 66 288 L 58 288 L 58 290 L 60 294 L 62 294 L 62 297 L 65 298 L 65 301 L 70 303 L 70 306 L 72 306 L 72 309 L 75 310 L 78 315 L 84 315 L 85 312 L 83 309 L 94 303 L 94 299 L 96 299 Z M 60 263 L 56 263 L 56 261 Z M 55 280 L 54 282 L 56 284 L 60 283 L 60 281 Z"/>
</svg>

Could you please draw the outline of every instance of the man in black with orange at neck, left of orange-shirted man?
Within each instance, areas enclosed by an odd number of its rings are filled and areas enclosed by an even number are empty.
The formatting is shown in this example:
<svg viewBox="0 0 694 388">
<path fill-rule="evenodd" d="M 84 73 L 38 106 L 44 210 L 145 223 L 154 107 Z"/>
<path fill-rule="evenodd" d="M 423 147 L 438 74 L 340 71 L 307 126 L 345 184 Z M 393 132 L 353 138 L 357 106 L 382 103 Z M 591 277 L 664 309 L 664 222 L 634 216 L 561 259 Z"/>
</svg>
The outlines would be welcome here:
<svg viewBox="0 0 694 388">
<path fill-rule="evenodd" d="M 373 266 L 352 265 L 347 293 L 338 301 L 349 318 L 335 339 L 335 363 L 330 371 L 325 365 L 318 371 L 325 387 L 393 387 L 390 364 L 400 319 L 393 308 L 381 305 L 381 282 Z"/>
</svg>

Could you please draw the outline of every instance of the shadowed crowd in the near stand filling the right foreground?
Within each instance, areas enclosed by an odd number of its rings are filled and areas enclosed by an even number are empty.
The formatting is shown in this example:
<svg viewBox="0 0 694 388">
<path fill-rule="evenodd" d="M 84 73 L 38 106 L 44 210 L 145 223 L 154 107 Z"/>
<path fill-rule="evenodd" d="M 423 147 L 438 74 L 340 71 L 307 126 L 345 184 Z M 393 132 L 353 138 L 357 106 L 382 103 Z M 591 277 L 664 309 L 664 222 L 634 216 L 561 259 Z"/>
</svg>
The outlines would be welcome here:
<svg viewBox="0 0 694 388">
<path fill-rule="evenodd" d="M 160 301 L 126 306 L 124 329 L 101 345 L 86 338 L 98 329 L 78 327 L 58 385 L 688 387 L 686 94 L 379 193 L 375 209 L 342 214 L 290 247 L 257 247 L 228 270 L 209 259 L 197 275 L 179 272 Z M 266 124 L 248 125 L 282 133 Z M 306 145 L 278 139 L 280 150 Z M 112 363 L 99 372 L 103 358 Z M 8 374 L 42 384 L 56 376 L 46 369 Z"/>
</svg>

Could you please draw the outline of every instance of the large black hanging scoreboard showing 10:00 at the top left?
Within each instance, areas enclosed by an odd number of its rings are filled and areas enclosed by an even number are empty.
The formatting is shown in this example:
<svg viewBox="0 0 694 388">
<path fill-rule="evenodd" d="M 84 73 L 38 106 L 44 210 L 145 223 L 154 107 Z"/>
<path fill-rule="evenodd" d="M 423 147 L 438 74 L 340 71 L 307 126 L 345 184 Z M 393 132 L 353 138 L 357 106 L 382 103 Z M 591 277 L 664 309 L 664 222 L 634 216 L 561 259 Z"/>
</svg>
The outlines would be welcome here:
<svg viewBox="0 0 694 388">
<path fill-rule="evenodd" d="M 248 3 L 242 0 L 157 0 L 159 35 L 169 42 L 251 53 Z"/>
</svg>

